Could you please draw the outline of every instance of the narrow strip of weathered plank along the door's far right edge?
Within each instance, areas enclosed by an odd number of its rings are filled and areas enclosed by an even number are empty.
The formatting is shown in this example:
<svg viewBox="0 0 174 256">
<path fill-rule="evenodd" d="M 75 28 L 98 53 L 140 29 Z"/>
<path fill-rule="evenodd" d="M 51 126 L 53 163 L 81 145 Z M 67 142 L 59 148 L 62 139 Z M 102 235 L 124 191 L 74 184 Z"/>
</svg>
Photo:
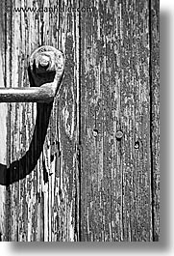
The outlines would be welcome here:
<svg viewBox="0 0 174 256">
<path fill-rule="evenodd" d="M 160 1 L 150 1 L 153 240 L 160 241 Z"/>
</svg>

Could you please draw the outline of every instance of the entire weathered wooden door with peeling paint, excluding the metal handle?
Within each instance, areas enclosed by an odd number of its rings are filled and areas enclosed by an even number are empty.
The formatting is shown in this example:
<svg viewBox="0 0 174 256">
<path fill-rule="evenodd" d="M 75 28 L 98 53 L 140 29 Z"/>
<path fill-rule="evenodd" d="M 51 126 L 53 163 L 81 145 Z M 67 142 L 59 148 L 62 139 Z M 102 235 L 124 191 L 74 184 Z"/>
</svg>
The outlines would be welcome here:
<svg viewBox="0 0 174 256">
<path fill-rule="evenodd" d="M 0 239 L 159 241 L 159 2 L 0 2 L 0 87 L 64 53 L 53 106 L 0 103 Z"/>
</svg>

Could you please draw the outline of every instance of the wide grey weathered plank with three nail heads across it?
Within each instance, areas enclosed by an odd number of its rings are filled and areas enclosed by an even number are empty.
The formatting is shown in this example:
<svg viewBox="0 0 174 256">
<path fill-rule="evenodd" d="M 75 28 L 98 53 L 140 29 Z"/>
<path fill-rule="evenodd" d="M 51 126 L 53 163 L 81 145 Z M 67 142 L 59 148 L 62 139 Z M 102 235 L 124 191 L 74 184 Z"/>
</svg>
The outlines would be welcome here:
<svg viewBox="0 0 174 256">
<path fill-rule="evenodd" d="M 81 15 L 82 241 L 152 241 L 148 1 L 90 7 Z"/>
</svg>

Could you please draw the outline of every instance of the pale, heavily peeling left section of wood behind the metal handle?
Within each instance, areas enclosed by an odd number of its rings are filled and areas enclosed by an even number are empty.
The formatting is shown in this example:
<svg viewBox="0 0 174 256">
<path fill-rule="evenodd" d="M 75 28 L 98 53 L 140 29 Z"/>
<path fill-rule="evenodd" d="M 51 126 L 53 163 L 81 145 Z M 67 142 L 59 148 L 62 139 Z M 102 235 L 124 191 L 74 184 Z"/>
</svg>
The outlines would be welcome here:
<svg viewBox="0 0 174 256">
<path fill-rule="evenodd" d="M 1 164 L 3 177 L 7 172 L 7 196 L 2 213 L 6 216 L 6 221 L 2 220 L 4 241 L 77 241 L 79 238 L 78 16 L 67 12 L 13 11 L 14 7 L 38 9 L 54 4 L 74 5 L 73 1 L 16 0 L 13 5 L 11 1 L 1 2 L 5 86 L 29 86 L 28 57 L 42 44 L 61 49 L 66 63 L 63 86 L 50 117 L 47 111 L 50 108 L 44 104 L 8 105 L 8 162 Z M 5 12 L 7 7 L 9 12 Z M 49 122 L 46 129 L 44 122 Z M 44 144 L 38 145 L 43 139 Z M 32 160 L 36 156 L 37 162 Z"/>
</svg>

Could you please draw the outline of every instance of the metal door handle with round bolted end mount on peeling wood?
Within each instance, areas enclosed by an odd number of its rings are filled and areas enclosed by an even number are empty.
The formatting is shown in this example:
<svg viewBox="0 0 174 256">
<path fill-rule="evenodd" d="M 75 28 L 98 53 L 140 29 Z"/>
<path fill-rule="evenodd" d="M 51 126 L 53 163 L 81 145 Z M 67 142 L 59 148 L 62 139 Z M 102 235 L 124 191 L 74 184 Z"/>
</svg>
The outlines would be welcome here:
<svg viewBox="0 0 174 256">
<path fill-rule="evenodd" d="M 62 52 L 53 46 L 37 48 L 29 60 L 31 87 L 0 88 L 0 102 L 46 102 L 54 100 L 62 81 Z"/>
</svg>

